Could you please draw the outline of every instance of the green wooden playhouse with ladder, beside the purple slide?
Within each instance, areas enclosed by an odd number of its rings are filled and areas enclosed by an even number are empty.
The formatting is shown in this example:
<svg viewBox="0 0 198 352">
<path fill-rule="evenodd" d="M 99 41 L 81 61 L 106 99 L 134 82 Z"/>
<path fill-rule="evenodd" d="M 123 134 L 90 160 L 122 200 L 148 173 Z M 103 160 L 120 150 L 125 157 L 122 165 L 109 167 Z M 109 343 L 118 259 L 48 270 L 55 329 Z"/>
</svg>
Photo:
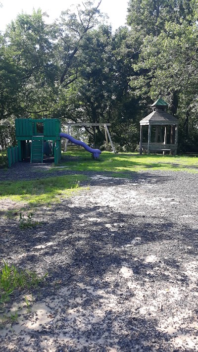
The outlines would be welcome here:
<svg viewBox="0 0 198 352">
<path fill-rule="evenodd" d="M 18 118 L 15 120 L 15 127 L 17 147 L 10 148 L 8 163 L 21 161 L 27 157 L 30 157 L 30 162 L 42 163 L 44 154 L 54 155 L 54 163 L 59 162 L 61 158 L 59 119 Z"/>
</svg>

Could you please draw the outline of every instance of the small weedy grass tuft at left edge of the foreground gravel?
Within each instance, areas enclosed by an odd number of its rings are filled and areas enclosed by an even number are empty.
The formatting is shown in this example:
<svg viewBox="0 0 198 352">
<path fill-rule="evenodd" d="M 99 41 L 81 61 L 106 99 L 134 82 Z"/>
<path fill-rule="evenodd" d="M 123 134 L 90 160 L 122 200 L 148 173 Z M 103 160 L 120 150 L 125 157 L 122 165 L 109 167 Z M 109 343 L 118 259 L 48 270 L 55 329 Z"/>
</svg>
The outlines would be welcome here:
<svg viewBox="0 0 198 352">
<path fill-rule="evenodd" d="M 39 277 L 35 272 L 17 269 L 14 265 L 9 266 L 6 262 L 3 262 L 0 269 L 0 307 L 3 307 L 4 303 L 9 301 L 10 295 L 16 289 L 29 290 L 32 287 L 36 288 L 47 275 Z"/>
</svg>

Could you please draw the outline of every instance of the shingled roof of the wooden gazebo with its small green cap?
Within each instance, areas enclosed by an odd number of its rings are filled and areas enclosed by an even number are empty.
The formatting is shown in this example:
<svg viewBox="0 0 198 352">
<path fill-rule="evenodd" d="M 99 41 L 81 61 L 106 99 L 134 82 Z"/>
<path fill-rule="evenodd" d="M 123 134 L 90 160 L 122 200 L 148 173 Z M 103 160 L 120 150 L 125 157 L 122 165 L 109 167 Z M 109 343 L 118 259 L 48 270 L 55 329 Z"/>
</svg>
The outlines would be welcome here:
<svg viewBox="0 0 198 352">
<path fill-rule="evenodd" d="M 162 101 L 162 99 L 161 99 L 161 101 Z M 155 103 L 156 103 L 156 101 L 155 101 Z M 154 105 L 154 104 L 152 104 L 152 105 Z M 140 124 L 141 125 L 178 125 L 179 121 L 175 116 L 169 114 L 166 111 L 156 110 L 156 111 L 152 111 L 148 116 L 144 117 L 140 121 Z"/>
</svg>

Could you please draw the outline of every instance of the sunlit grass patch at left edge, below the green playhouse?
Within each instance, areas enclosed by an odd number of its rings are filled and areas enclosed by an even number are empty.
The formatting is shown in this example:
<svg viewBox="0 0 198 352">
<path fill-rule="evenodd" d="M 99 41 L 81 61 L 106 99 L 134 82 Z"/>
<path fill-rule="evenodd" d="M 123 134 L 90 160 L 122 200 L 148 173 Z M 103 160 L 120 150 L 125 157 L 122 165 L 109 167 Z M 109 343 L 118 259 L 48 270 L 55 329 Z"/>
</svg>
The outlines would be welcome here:
<svg viewBox="0 0 198 352">
<path fill-rule="evenodd" d="M 2 181 L 0 200 L 10 198 L 34 207 L 41 204 L 50 205 L 82 189 L 80 182 L 86 179 L 84 175 L 66 175 L 31 181 Z"/>
</svg>

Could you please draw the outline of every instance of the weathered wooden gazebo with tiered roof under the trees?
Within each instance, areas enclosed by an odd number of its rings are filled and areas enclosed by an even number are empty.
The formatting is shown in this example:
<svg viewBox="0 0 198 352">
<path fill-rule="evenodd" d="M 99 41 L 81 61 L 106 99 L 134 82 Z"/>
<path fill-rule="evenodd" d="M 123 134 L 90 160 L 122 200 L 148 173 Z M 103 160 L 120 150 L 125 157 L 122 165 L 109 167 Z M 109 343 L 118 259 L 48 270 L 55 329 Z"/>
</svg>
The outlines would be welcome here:
<svg viewBox="0 0 198 352">
<path fill-rule="evenodd" d="M 161 98 L 155 101 L 151 107 L 153 111 L 140 121 L 140 154 L 143 150 L 146 150 L 148 154 L 157 151 L 163 151 L 164 154 L 169 151 L 170 154 L 176 155 L 178 119 L 166 112 L 168 104 Z M 143 143 L 143 126 L 148 126 L 147 143 Z M 154 129 L 154 133 L 151 131 L 151 127 L 152 130 Z M 167 138 L 170 143 L 167 143 Z"/>
</svg>

